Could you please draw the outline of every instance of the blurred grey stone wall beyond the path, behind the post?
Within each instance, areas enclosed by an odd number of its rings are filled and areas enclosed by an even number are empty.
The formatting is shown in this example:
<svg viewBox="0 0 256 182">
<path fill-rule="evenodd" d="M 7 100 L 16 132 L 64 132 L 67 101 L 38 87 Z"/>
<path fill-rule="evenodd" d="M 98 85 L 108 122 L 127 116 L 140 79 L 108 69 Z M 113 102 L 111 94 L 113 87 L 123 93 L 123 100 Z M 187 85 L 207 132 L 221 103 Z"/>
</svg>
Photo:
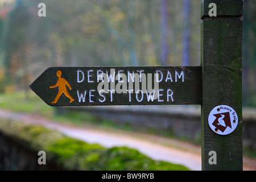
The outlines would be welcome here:
<svg viewBox="0 0 256 182">
<path fill-rule="evenodd" d="M 169 133 L 200 144 L 200 106 L 90 106 L 61 107 L 60 111 L 86 111 L 137 131 Z M 243 109 L 243 146 L 256 150 L 256 110 Z"/>
</svg>

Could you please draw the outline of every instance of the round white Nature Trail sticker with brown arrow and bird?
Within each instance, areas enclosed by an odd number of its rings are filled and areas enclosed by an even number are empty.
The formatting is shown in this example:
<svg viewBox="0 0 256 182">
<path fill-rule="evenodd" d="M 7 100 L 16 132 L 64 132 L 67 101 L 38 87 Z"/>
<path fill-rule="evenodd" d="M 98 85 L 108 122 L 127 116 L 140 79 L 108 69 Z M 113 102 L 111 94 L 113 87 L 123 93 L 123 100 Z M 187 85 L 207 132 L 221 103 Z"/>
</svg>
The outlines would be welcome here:
<svg viewBox="0 0 256 182">
<path fill-rule="evenodd" d="M 228 135 L 237 127 L 237 113 L 232 107 L 226 105 L 216 106 L 210 111 L 208 123 L 214 133 Z"/>
</svg>

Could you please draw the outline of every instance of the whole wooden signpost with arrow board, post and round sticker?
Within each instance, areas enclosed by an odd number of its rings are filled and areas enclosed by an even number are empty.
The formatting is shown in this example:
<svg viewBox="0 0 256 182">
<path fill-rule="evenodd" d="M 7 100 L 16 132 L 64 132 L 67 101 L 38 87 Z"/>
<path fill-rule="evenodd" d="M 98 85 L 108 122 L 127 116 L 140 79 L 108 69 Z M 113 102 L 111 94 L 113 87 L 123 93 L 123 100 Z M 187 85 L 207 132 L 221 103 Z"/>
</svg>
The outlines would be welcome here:
<svg viewBox="0 0 256 182">
<path fill-rule="evenodd" d="M 51 67 L 30 88 L 51 106 L 201 105 L 202 169 L 242 170 L 243 1 L 201 5 L 199 67 Z"/>
</svg>

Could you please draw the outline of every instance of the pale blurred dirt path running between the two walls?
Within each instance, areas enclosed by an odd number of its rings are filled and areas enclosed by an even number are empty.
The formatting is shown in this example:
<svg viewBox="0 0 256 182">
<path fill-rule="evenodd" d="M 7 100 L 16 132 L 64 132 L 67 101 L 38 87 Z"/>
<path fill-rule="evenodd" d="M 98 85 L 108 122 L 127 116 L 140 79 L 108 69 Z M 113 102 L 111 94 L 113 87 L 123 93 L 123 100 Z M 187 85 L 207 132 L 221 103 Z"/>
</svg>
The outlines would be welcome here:
<svg viewBox="0 0 256 182">
<path fill-rule="evenodd" d="M 0 118 L 18 119 L 32 125 L 42 125 L 54 129 L 69 137 L 84 140 L 88 143 L 98 143 L 105 147 L 127 146 L 136 148 L 142 154 L 155 160 L 164 160 L 171 163 L 182 164 L 192 170 L 201 170 L 200 147 L 186 142 L 165 139 L 144 134 L 113 133 L 96 129 L 88 129 L 73 125 L 63 125 L 49 121 L 43 117 L 32 114 L 14 113 L 0 109 Z M 172 147 L 164 143 L 172 143 Z M 179 146 L 179 148 L 175 147 Z M 183 148 L 181 150 L 180 148 Z M 256 160 L 244 158 L 244 170 L 256 170 Z"/>
</svg>

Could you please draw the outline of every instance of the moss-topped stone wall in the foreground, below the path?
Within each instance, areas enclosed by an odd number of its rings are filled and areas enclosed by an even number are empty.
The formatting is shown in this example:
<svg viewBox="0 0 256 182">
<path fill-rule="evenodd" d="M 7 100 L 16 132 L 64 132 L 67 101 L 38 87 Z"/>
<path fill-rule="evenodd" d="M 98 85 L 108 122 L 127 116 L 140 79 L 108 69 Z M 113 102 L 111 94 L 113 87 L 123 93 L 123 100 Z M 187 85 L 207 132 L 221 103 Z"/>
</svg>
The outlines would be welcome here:
<svg viewBox="0 0 256 182">
<path fill-rule="evenodd" d="M 0 146 L 1 171 L 188 170 L 180 164 L 153 160 L 133 148 L 105 148 L 68 137 L 56 130 L 11 119 L 0 119 Z M 44 156 L 39 151 L 43 151 Z"/>
</svg>

